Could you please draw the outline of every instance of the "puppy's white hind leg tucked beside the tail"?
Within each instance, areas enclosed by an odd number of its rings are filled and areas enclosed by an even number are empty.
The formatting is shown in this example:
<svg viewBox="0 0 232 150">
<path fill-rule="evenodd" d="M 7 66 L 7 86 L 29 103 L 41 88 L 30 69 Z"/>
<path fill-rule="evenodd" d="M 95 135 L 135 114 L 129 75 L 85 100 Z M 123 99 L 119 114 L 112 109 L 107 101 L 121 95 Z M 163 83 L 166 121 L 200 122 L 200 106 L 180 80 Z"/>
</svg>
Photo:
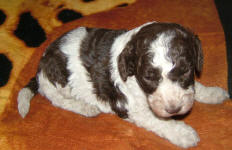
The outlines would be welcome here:
<svg viewBox="0 0 232 150">
<path fill-rule="evenodd" d="M 63 108 L 74 113 L 78 113 L 87 117 L 93 117 L 100 113 L 98 107 L 86 103 L 84 100 L 79 100 L 71 97 L 68 87 L 62 88 L 60 85 L 54 86 L 49 80 L 40 73 L 39 92 L 47 97 L 54 106 Z"/>
</svg>

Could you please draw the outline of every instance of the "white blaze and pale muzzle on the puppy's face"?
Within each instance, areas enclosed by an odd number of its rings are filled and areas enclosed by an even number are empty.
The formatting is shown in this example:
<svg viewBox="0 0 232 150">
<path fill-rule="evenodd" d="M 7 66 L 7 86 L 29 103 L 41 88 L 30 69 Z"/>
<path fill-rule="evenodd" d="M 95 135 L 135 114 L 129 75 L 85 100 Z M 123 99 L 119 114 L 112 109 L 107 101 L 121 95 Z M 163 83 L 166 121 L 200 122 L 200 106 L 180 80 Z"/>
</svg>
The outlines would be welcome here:
<svg viewBox="0 0 232 150">
<path fill-rule="evenodd" d="M 175 67 L 168 57 L 170 42 L 174 38 L 174 32 L 165 32 L 151 43 L 150 53 L 154 53 L 153 66 L 161 70 L 162 80 L 156 91 L 148 97 L 149 104 L 156 115 L 170 117 L 184 114 L 193 105 L 194 89 L 183 89 L 178 82 L 171 81 L 168 73 Z"/>
</svg>

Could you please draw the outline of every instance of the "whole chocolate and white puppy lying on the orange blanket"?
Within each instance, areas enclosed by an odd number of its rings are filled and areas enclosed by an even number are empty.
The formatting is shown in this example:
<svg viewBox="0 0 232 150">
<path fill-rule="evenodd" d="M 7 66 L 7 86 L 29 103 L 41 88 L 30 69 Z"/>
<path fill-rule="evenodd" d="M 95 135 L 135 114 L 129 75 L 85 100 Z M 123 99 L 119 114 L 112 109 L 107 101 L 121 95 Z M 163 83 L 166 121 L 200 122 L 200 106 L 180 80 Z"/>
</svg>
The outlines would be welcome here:
<svg viewBox="0 0 232 150">
<path fill-rule="evenodd" d="M 190 111 L 194 99 L 221 103 L 219 87 L 194 80 L 202 70 L 196 35 L 174 23 L 146 23 L 132 30 L 79 27 L 53 42 L 36 77 L 18 95 L 22 117 L 39 92 L 57 107 L 92 117 L 115 113 L 187 148 L 199 137 L 182 121 L 167 119 Z"/>
</svg>

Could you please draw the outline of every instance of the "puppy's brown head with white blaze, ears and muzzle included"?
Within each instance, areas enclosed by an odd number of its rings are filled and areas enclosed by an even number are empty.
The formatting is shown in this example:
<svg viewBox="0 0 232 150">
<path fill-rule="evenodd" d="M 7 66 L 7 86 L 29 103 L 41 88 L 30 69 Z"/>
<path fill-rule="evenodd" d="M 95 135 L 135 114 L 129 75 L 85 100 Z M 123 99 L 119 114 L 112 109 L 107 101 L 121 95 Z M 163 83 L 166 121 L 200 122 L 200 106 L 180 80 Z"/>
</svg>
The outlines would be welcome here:
<svg viewBox="0 0 232 150">
<path fill-rule="evenodd" d="M 159 117 L 185 114 L 194 102 L 194 76 L 203 65 L 196 35 L 177 24 L 144 26 L 118 59 L 122 80 L 135 76 Z"/>
</svg>

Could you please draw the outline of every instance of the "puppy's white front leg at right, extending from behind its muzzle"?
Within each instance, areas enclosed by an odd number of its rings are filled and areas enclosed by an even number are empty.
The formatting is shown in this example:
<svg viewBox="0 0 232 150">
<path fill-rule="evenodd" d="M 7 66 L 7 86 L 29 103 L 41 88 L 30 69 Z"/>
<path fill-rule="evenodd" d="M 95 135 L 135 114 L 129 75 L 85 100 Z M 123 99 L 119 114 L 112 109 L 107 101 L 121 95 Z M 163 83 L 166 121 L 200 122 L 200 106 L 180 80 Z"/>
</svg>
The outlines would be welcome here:
<svg viewBox="0 0 232 150">
<path fill-rule="evenodd" d="M 220 87 L 206 87 L 195 81 L 195 99 L 202 103 L 219 104 L 229 98 L 229 94 Z"/>
</svg>

